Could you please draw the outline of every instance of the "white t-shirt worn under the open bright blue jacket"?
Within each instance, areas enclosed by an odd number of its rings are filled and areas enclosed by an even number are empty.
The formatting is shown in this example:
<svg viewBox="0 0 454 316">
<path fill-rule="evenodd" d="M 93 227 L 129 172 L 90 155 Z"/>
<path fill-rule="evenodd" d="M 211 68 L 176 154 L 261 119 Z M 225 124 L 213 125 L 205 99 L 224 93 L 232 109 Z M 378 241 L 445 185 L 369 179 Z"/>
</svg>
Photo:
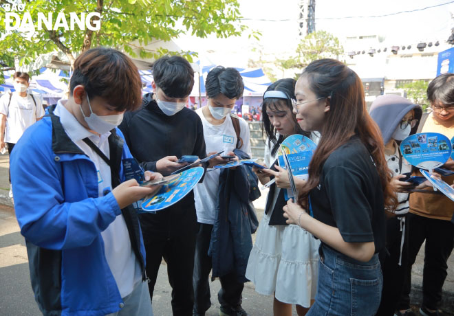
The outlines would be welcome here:
<svg viewBox="0 0 454 316">
<path fill-rule="evenodd" d="M 60 117 L 60 122 L 69 138 L 93 161 L 98 173 L 98 195 L 103 196 L 102 192 L 105 188 L 111 190 L 112 187 L 110 167 L 82 139 L 88 137 L 107 158 L 110 158 L 108 139 L 110 132 L 100 136 L 90 133 L 80 125 L 76 117 L 69 113 L 61 101 L 58 101 L 54 114 Z M 121 297 L 126 297 L 132 293 L 134 286 L 141 282 L 142 269 L 131 247 L 123 215 L 118 215 L 105 231 L 101 232 L 101 236 L 104 241 L 107 264 L 114 275 Z"/>
</svg>

